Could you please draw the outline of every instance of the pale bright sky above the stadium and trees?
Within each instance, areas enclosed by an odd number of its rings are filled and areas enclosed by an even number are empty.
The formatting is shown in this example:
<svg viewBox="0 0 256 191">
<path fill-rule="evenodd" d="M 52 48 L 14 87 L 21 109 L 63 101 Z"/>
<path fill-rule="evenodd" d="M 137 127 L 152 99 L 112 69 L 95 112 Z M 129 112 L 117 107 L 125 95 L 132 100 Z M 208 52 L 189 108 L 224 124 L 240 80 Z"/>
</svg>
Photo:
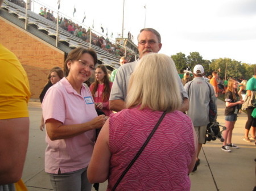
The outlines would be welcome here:
<svg viewBox="0 0 256 191">
<path fill-rule="evenodd" d="M 57 10 L 57 0 L 41 2 Z M 39 12 L 36 2 L 34 9 Z M 60 0 L 59 11 L 80 23 L 85 14 L 85 27 L 94 23 L 94 30 L 102 35 L 102 25 L 104 35 L 108 28 L 113 39 L 122 34 L 123 23 L 123 37 L 130 32 L 135 44 L 144 26 L 154 28 L 162 37 L 159 53 L 168 56 L 199 52 L 204 60 L 231 58 L 256 64 L 255 0 L 125 0 L 124 22 L 122 0 Z"/>
</svg>

